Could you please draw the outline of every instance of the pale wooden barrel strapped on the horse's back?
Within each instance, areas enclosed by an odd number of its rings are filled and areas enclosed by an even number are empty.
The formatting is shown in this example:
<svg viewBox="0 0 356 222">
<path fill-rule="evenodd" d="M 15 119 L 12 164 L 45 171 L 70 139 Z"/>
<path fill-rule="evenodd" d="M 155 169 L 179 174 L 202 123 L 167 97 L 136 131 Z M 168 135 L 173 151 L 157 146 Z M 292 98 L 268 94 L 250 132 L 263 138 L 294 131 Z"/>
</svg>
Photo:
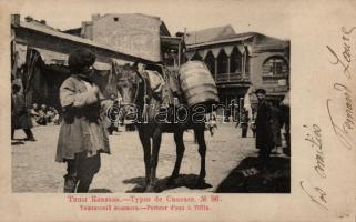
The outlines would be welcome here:
<svg viewBox="0 0 356 222">
<path fill-rule="evenodd" d="M 189 61 L 179 70 L 179 80 L 187 105 L 218 103 L 215 81 L 201 61 Z"/>
</svg>

